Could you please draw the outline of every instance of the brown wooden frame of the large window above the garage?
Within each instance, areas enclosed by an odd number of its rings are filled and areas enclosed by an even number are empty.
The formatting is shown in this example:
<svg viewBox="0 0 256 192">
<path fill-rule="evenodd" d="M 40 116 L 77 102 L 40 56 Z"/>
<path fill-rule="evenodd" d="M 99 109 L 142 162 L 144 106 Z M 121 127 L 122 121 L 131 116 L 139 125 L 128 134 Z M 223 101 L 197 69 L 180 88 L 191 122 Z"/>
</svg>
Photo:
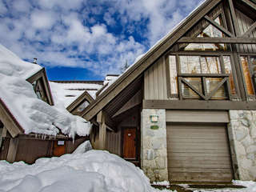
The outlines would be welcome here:
<svg viewBox="0 0 256 192">
<path fill-rule="evenodd" d="M 182 75 L 181 73 L 181 63 L 180 63 L 180 57 L 179 56 L 209 56 L 209 57 L 218 57 L 219 58 L 219 62 L 220 62 L 220 66 L 221 66 L 221 71 L 222 74 L 226 74 L 225 73 L 225 65 L 224 65 L 224 56 L 229 56 L 230 57 L 230 66 L 231 66 L 231 70 L 232 70 L 232 74 L 233 74 L 233 79 L 234 79 L 234 87 L 235 87 L 235 92 L 236 94 L 232 94 L 231 90 L 230 90 L 230 94 L 229 98 L 230 100 L 233 99 L 238 99 L 240 93 L 238 90 L 238 77 L 237 77 L 237 72 L 235 69 L 235 65 L 234 65 L 234 58 L 233 58 L 233 53 L 230 51 L 194 51 L 194 50 L 184 50 L 184 51 L 177 51 L 177 52 L 169 52 L 168 54 L 166 54 L 166 78 L 167 78 L 167 96 L 168 98 L 171 99 L 181 99 L 181 94 L 182 94 L 182 87 L 181 87 L 181 83 L 179 81 L 179 79 L 177 79 L 177 92 L 178 94 L 172 94 L 171 93 L 171 87 L 170 87 L 170 60 L 169 60 L 169 56 L 170 55 L 174 55 L 176 58 L 176 69 L 177 69 L 177 77 L 179 75 Z M 230 82 L 230 81 L 229 81 Z M 229 83 L 230 86 L 230 83 Z M 188 99 L 186 99 L 188 100 Z M 194 100 L 194 99 L 191 99 Z"/>
</svg>

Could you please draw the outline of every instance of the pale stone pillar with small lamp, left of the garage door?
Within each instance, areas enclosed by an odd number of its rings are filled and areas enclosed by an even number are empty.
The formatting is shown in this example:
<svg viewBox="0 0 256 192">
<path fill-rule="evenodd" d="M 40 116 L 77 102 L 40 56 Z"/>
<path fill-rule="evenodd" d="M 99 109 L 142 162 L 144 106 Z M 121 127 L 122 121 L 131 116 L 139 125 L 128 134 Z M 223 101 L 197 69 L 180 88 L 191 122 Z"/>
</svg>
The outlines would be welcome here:
<svg viewBox="0 0 256 192">
<path fill-rule="evenodd" d="M 158 122 L 151 122 L 150 115 L 158 116 Z M 142 110 L 141 138 L 142 170 L 150 182 L 168 181 L 166 110 Z"/>
</svg>

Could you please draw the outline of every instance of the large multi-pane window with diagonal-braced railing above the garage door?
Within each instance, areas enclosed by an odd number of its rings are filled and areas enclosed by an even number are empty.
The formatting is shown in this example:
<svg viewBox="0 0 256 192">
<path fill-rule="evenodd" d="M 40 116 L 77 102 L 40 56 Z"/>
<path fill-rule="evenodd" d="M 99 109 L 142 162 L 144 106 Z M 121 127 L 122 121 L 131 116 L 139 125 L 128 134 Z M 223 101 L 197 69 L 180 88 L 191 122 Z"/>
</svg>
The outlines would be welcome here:
<svg viewBox="0 0 256 192">
<path fill-rule="evenodd" d="M 230 55 L 170 55 L 169 65 L 171 97 L 208 100 L 236 95 Z"/>
</svg>

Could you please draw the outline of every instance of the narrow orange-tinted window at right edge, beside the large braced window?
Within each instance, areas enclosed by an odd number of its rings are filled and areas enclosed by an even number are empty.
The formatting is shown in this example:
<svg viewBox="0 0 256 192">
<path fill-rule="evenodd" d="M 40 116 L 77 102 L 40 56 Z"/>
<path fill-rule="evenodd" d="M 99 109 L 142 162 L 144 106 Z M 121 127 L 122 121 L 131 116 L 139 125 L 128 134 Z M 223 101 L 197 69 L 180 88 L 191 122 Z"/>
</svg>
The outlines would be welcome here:
<svg viewBox="0 0 256 192">
<path fill-rule="evenodd" d="M 243 78 L 246 84 L 246 92 L 249 95 L 254 94 L 256 56 L 241 56 Z M 254 79 L 254 81 L 253 81 Z"/>
</svg>

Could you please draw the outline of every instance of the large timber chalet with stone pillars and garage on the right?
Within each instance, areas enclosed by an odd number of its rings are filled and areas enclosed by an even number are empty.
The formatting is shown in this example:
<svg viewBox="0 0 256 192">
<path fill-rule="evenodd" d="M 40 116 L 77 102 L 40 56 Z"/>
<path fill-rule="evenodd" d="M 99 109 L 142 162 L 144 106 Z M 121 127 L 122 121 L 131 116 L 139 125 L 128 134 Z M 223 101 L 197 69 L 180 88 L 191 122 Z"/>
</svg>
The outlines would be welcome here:
<svg viewBox="0 0 256 192">
<path fill-rule="evenodd" d="M 151 181 L 256 179 L 256 4 L 207 0 L 80 114 Z"/>
</svg>

